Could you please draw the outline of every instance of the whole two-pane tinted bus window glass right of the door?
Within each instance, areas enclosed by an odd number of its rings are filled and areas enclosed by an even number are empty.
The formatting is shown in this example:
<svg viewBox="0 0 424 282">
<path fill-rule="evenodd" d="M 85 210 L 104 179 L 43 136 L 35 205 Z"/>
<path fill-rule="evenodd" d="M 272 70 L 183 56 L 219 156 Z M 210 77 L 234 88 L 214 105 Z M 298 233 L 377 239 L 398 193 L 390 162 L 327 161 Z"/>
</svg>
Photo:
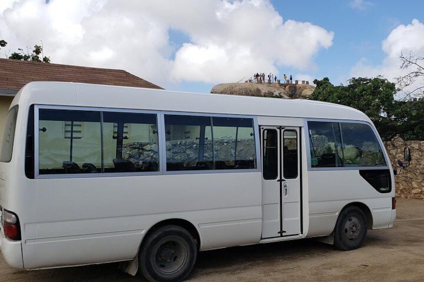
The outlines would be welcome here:
<svg viewBox="0 0 424 282">
<path fill-rule="evenodd" d="M 312 167 L 385 166 L 372 129 L 363 123 L 308 122 Z"/>
</svg>

